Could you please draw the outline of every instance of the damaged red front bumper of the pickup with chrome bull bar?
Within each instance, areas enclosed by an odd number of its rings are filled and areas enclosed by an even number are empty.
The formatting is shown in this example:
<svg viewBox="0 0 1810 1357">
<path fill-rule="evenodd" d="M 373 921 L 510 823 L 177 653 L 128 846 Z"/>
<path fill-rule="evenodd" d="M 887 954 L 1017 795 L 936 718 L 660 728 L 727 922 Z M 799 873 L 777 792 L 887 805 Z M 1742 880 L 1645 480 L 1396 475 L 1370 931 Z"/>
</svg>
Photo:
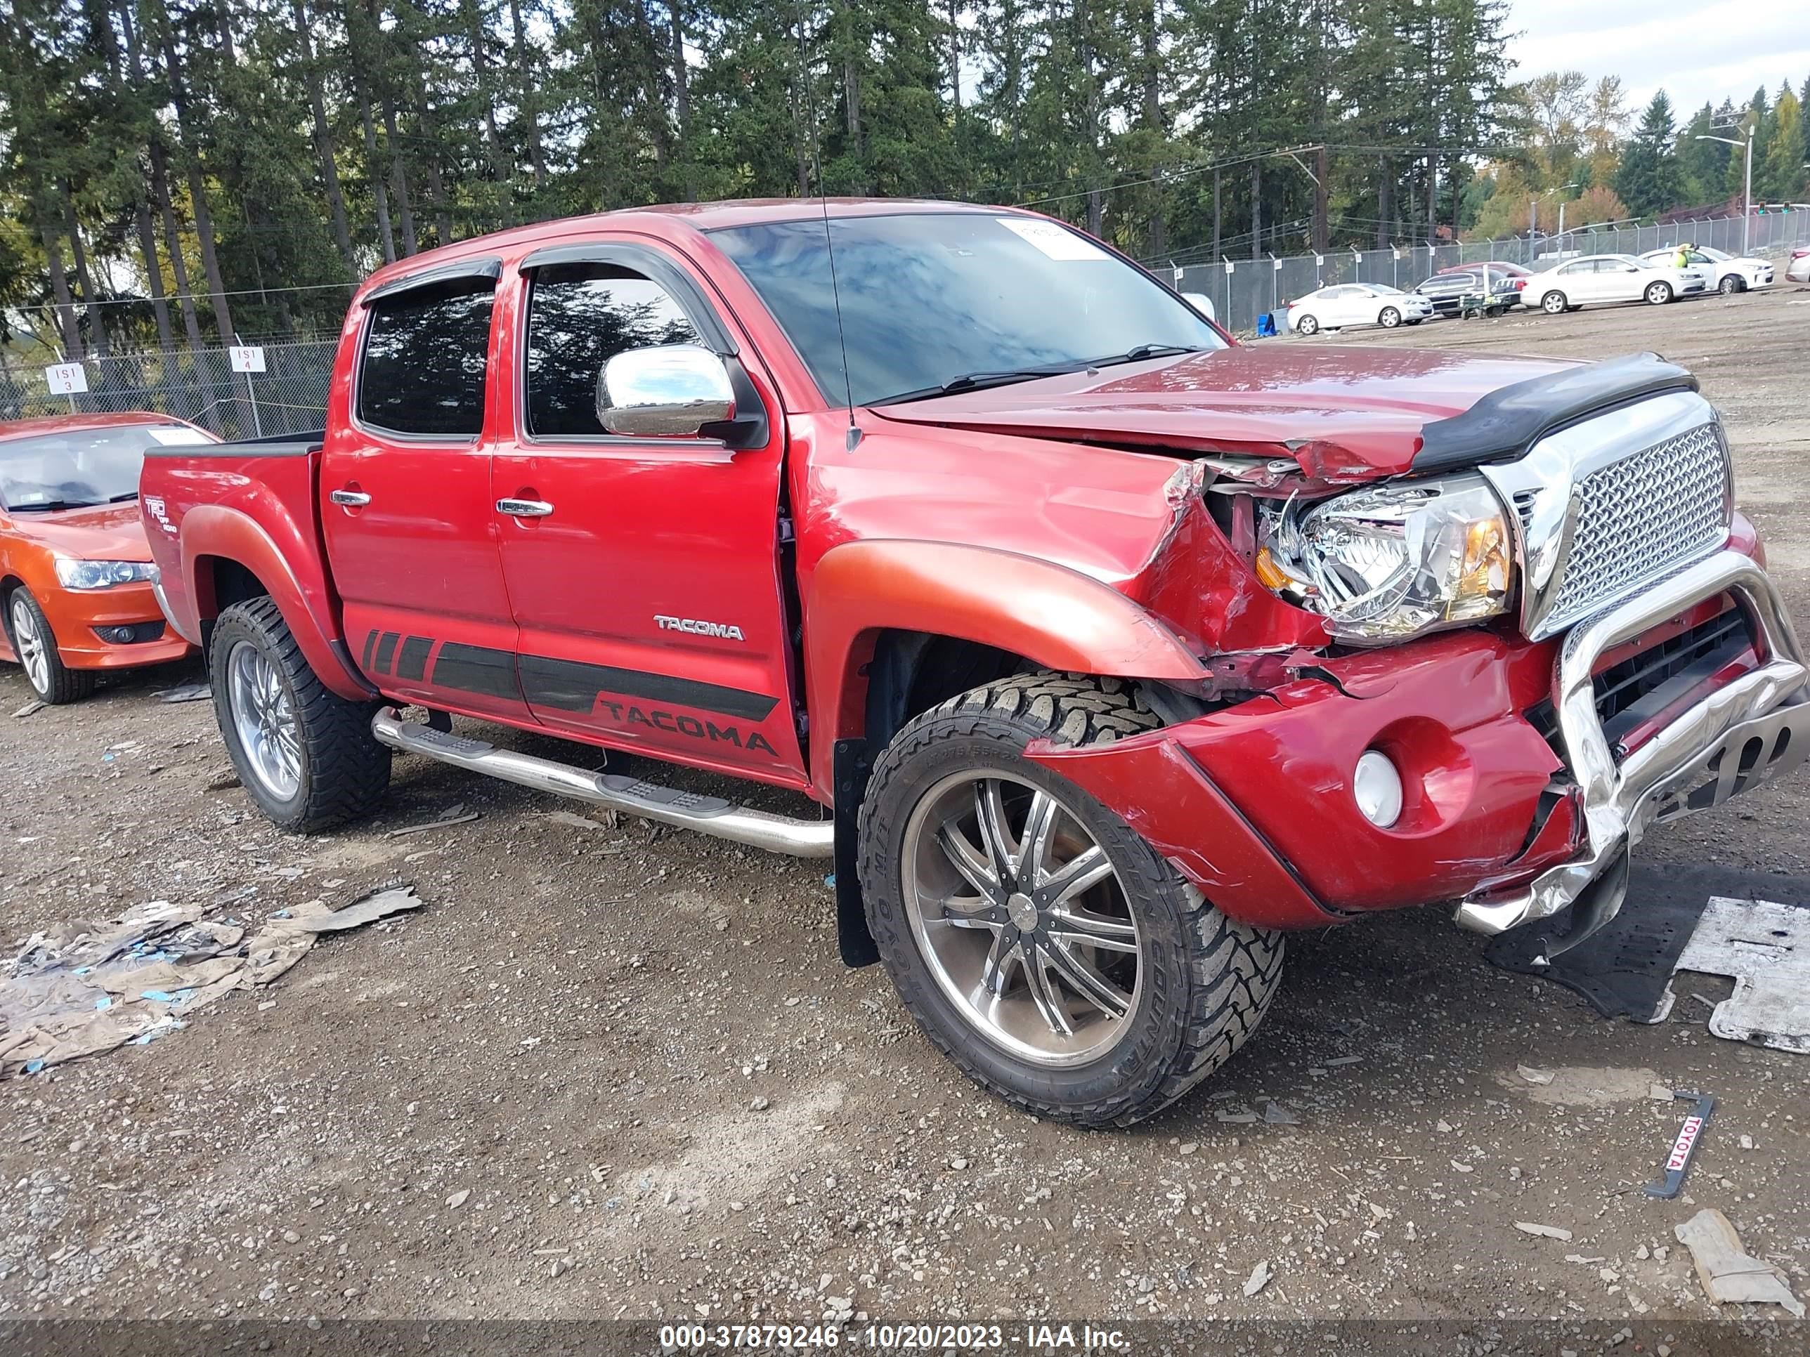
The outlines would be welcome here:
<svg viewBox="0 0 1810 1357">
<path fill-rule="evenodd" d="M 1616 764 L 1593 675 L 1723 595 L 1747 613 L 1752 668 L 1692 689 Z M 1026 756 L 1113 809 L 1245 923 L 1303 928 L 1462 901 L 1461 923 L 1500 932 L 1580 901 L 1573 921 L 1605 921 L 1620 906 L 1618 867 L 1649 825 L 1810 753 L 1797 639 L 1765 568 L 1732 548 L 1564 637 L 1461 630 L 1296 673 L 1195 720 L 1110 745 L 1037 742 Z M 1557 713 L 1553 744 L 1528 718 L 1542 700 Z M 1403 814 L 1386 829 L 1352 794 L 1367 749 L 1403 774 Z"/>
</svg>

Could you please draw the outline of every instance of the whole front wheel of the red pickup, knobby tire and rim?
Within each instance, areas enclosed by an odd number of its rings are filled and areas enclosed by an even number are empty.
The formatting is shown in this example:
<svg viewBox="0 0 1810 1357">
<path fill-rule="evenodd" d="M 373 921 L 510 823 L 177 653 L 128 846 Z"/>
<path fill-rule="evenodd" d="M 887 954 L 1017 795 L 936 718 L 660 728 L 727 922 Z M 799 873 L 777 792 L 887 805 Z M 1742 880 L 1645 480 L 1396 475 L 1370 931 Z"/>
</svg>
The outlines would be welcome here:
<svg viewBox="0 0 1810 1357">
<path fill-rule="evenodd" d="M 867 923 L 900 999 L 970 1078 L 1039 1116 L 1151 1116 L 1229 1060 L 1276 992 L 1276 930 L 1220 914 L 1023 753 L 1158 724 L 1117 680 L 1003 678 L 907 724 L 862 803 Z"/>
</svg>

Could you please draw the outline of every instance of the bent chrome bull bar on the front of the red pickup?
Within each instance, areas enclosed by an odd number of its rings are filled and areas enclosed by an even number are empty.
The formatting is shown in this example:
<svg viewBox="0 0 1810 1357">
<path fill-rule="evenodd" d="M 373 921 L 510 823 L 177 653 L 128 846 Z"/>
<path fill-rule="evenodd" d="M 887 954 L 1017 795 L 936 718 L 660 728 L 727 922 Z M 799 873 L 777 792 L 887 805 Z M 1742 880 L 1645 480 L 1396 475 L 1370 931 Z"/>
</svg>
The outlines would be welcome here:
<svg viewBox="0 0 1810 1357">
<path fill-rule="evenodd" d="M 1759 666 L 1709 693 L 1618 765 L 1596 716 L 1598 659 L 1718 593 L 1730 593 L 1747 613 Z M 1553 666 L 1553 711 L 1584 800 L 1584 850 L 1519 890 L 1464 899 L 1457 923 L 1500 934 L 1577 905 L 1571 932 L 1549 943 L 1548 955 L 1580 943 L 1620 910 L 1627 850 L 1651 825 L 1721 805 L 1810 754 L 1806 680 L 1810 669 L 1777 588 L 1739 552 L 1716 552 L 1578 622 Z"/>
</svg>

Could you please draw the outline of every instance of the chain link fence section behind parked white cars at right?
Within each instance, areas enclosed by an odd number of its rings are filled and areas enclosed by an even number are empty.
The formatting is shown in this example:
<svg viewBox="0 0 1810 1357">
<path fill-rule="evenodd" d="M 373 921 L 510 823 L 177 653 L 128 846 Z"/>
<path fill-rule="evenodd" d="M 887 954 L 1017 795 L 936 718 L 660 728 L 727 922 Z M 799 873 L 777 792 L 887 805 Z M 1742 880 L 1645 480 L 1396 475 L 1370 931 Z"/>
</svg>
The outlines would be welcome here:
<svg viewBox="0 0 1810 1357">
<path fill-rule="evenodd" d="M 1674 223 L 1671 226 L 1613 226 L 1575 230 L 1560 235 L 1510 237 L 1506 241 L 1462 241 L 1441 246 L 1396 246 L 1392 250 L 1329 250 L 1325 255 L 1289 255 L 1285 259 L 1234 259 L 1229 264 L 1184 264 L 1171 277 L 1178 291 L 1213 299 L 1222 326 L 1234 333 L 1256 329 L 1265 311 L 1278 313 L 1296 297 L 1336 282 L 1386 284 L 1412 291 L 1432 273 L 1453 264 L 1481 264 L 1488 259 L 1544 270 L 1571 255 L 1642 255 L 1680 242 L 1709 246 L 1729 255 L 1772 259 L 1776 282 L 1785 282 L 1785 264 L 1792 246 L 1810 244 L 1810 210 L 1767 212 L 1754 215 L 1747 246 L 1741 242 L 1741 217 Z M 1160 270 L 1158 270 L 1160 271 Z"/>
</svg>

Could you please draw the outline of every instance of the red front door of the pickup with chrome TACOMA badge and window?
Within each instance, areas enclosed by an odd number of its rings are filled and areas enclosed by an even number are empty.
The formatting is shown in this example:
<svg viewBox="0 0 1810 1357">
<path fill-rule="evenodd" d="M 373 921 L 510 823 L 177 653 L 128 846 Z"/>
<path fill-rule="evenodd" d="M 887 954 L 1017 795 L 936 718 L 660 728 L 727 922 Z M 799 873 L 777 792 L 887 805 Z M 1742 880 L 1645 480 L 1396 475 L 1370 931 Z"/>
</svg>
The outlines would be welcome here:
<svg viewBox="0 0 1810 1357">
<path fill-rule="evenodd" d="M 510 326 L 516 432 L 498 445 L 492 487 L 530 711 L 559 733 L 800 783 L 784 422 L 751 351 L 684 261 L 637 241 L 529 255 Z M 738 414 L 769 413 L 760 443 L 605 432 L 599 369 L 659 344 L 726 355 Z"/>
</svg>

